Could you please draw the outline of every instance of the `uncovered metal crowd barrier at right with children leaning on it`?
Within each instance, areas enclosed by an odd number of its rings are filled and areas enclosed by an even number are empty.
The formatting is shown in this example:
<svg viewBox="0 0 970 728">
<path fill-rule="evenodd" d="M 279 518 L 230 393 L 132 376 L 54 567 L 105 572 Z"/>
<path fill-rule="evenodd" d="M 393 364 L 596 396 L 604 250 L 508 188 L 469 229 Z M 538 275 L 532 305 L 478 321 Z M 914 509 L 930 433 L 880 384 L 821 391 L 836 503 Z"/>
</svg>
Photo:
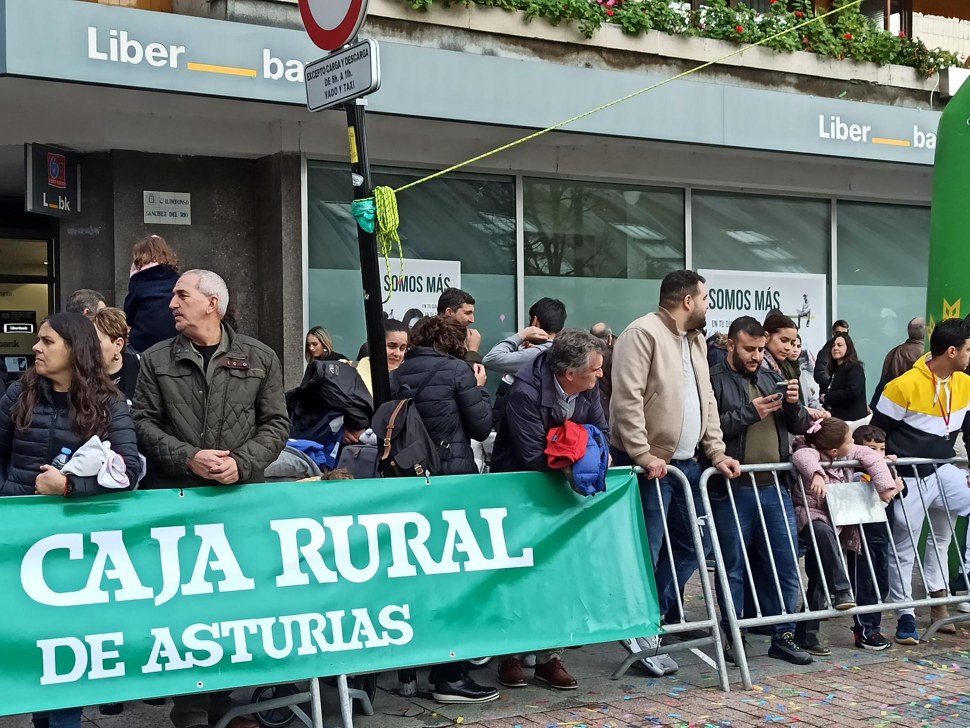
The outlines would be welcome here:
<svg viewBox="0 0 970 728">
<path fill-rule="evenodd" d="M 968 591 L 970 591 L 970 580 L 968 580 L 968 576 L 966 573 L 964 554 L 960 551 L 959 544 L 956 538 L 956 533 L 954 530 L 954 517 L 957 515 L 965 516 L 967 514 L 955 513 L 954 511 L 950 510 L 950 505 L 947 501 L 946 491 L 943 487 L 943 484 L 939 475 L 940 465 L 943 465 L 943 464 L 965 465 L 966 462 L 967 460 L 965 459 L 934 460 L 934 459 L 922 459 L 922 458 L 906 458 L 906 459 L 901 458 L 895 462 L 887 462 L 887 464 L 889 465 L 889 469 L 892 472 L 893 477 L 903 477 L 905 480 L 909 481 L 909 483 L 907 484 L 909 486 L 907 498 L 914 498 L 914 497 L 920 498 L 924 525 L 927 523 L 930 523 L 930 509 L 927 507 L 927 497 L 923 494 L 922 489 L 919 486 L 916 486 L 915 488 L 913 487 L 914 481 L 911 479 L 916 478 L 917 481 L 922 480 L 925 483 L 929 484 L 930 486 L 932 484 L 935 484 L 936 487 L 939 489 L 940 496 L 945 507 L 945 511 L 948 513 L 947 522 L 949 523 L 949 528 L 950 528 L 948 554 L 949 554 L 949 549 L 951 548 L 956 549 L 957 552 L 959 553 L 959 561 L 961 564 L 964 564 L 964 568 L 961 569 L 961 572 L 963 575 L 963 587 L 966 588 Z M 822 464 L 826 469 L 839 469 L 842 467 L 855 468 L 860 466 L 860 463 L 857 460 L 837 460 L 833 463 L 823 462 Z M 921 478 L 917 472 L 917 466 L 919 465 L 932 465 L 932 468 L 933 468 L 932 474 L 926 475 Z M 901 474 L 900 474 L 900 470 L 902 471 Z M 785 485 L 783 485 L 782 482 L 779 480 L 778 474 L 792 473 L 793 474 L 792 480 L 795 481 L 794 488 L 798 489 L 798 493 L 802 497 L 802 502 L 803 503 L 807 502 L 805 500 L 805 495 L 806 495 L 805 484 L 803 483 L 802 479 L 797 476 L 797 473 L 795 473 L 795 468 L 792 465 L 792 463 L 743 465 L 741 467 L 741 472 L 742 472 L 742 475 L 740 478 L 732 481 L 728 481 L 728 483 L 730 483 L 731 485 L 726 489 L 727 491 L 726 499 L 730 504 L 731 515 L 733 516 L 733 521 L 737 527 L 737 533 L 740 533 L 741 527 L 740 527 L 740 522 L 738 520 L 737 506 L 734 500 L 734 494 L 735 494 L 735 491 L 737 491 L 739 488 L 754 489 L 754 491 L 756 492 L 756 495 L 758 494 L 759 489 L 770 489 L 774 491 L 775 496 L 777 497 L 778 507 L 784 508 L 782 489 L 784 488 L 786 491 L 788 491 L 788 488 Z M 759 486 L 755 481 L 755 473 L 765 473 L 765 472 L 769 472 L 772 474 L 772 483 Z M 910 474 L 907 475 L 907 473 L 910 473 Z M 705 470 L 700 478 L 700 486 L 701 486 L 700 492 L 703 498 L 704 509 L 707 514 L 713 514 L 713 511 L 711 508 L 710 495 L 708 493 L 708 488 L 707 488 L 708 482 L 713 476 L 722 477 L 716 468 L 711 467 Z M 748 482 L 743 482 L 743 479 L 745 478 L 748 479 Z M 829 492 L 831 491 L 831 488 L 838 488 L 838 485 L 830 486 Z M 771 500 L 773 501 L 774 498 L 772 498 Z M 764 521 L 764 511 L 761 507 L 760 497 L 756 497 L 755 502 L 758 508 L 758 520 L 756 523 L 756 527 L 758 524 L 760 524 L 760 536 L 764 538 L 765 542 L 768 542 L 767 526 Z M 889 507 L 894 507 L 895 502 L 896 501 L 892 501 Z M 826 504 L 827 504 L 827 498 L 826 498 Z M 913 553 L 915 555 L 915 558 L 914 558 L 915 565 L 919 569 L 919 573 L 920 573 L 923 585 L 927 586 L 924 559 L 920 555 L 920 549 L 919 549 L 919 543 L 918 543 L 920 539 L 920 533 L 918 531 L 916 538 L 914 538 L 912 529 L 909 527 L 910 525 L 909 517 L 906 515 L 905 510 L 903 509 L 898 509 L 898 510 L 899 510 L 899 513 L 902 514 L 902 518 L 904 519 L 904 522 L 906 523 L 906 526 L 907 526 L 906 533 L 909 536 L 909 541 L 910 541 L 909 546 L 913 549 Z M 713 522 L 713 519 L 712 519 L 712 522 Z M 831 517 L 831 515 L 830 515 L 830 522 L 835 523 L 835 520 Z M 886 517 L 884 516 L 881 521 L 873 520 L 868 522 L 883 522 L 886 524 L 889 549 L 891 551 L 889 568 L 891 570 L 892 565 L 894 563 L 896 574 L 898 575 L 900 582 L 905 584 L 908 581 L 910 584 L 912 584 L 913 575 L 912 574 L 906 575 L 902 573 L 902 566 L 899 561 L 899 553 L 896 548 L 896 543 L 893 538 L 892 530 L 889 526 L 889 521 L 887 521 Z M 843 522 L 843 523 L 848 524 L 848 522 Z M 809 521 L 809 524 L 811 524 L 811 521 Z M 743 543 L 742 543 L 742 552 L 743 552 L 744 578 L 748 586 L 751 587 L 751 593 L 754 596 L 754 602 L 755 602 L 754 606 L 755 606 L 755 611 L 757 613 L 757 616 L 748 617 L 748 618 L 738 616 L 734 613 L 733 604 L 724 605 L 722 608 L 723 615 L 727 619 L 728 629 L 730 632 L 730 640 L 733 647 L 733 654 L 736 660 L 737 667 L 741 671 L 741 681 L 746 690 L 752 689 L 751 674 L 748 669 L 748 657 L 747 657 L 747 654 L 745 653 L 744 642 L 741 638 L 741 630 L 745 629 L 746 627 L 768 626 L 768 625 L 774 625 L 774 624 L 779 624 L 784 622 L 799 622 L 799 621 L 806 621 L 810 619 L 821 620 L 821 619 L 828 619 L 831 617 L 852 617 L 855 615 L 864 615 L 864 614 L 870 614 L 873 612 L 890 612 L 890 611 L 909 609 L 909 608 L 915 608 L 915 607 L 932 607 L 936 605 L 956 604 L 958 602 L 965 602 L 968 599 L 970 599 L 970 596 L 966 594 L 954 594 L 951 592 L 950 578 L 949 578 L 949 574 L 947 573 L 948 564 L 946 559 L 941 559 L 936 557 L 937 540 L 936 540 L 936 535 L 933 532 L 933 528 L 930 525 L 929 536 L 927 538 L 927 543 L 926 543 L 926 553 L 931 554 L 933 556 L 932 560 L 937 562 L 936 565 L 940 569 L 941 577 L 943 578 L 943 583 L 944 585 L 946 585 L 947 596 L 941 596 L 941 597 L 935 597 L 935 598 L 930 597 L 928 596 L 928 586 L 927 586 L 927 596 L 923 599 L 909 599 L 901 602 L 889 602 L 889 601 L 884 602 L 883 595 L 879 593 L 879 589 L 877 588 L 875 604 L 857 605 L 852 609 L 836 610 L 832 606 L 831 597 L 828 591 L 828 585 L 824 575 L 822 555 L 819 552 L 819 545 L 815 536 L 815 530 L 814 528 L 809 528 L 808 532 L 811 534 L 811 543 L 804 544 L 807 549 L 805 558 L 806 559 L 814 558 L 816 560 L 816 563 L 819 566 L 820 577 L 822 580 L 822 586 L 824 591 L 824 600 L 826 605 L 826 609 L 812 611 L 809 609 L 809 599 L 808 599 L 806 584 L 803 582 L 801 578 L 801 569 L 798 568 L 798 558 L 799 558 L 798 557 L 798 553 L 799 553 L 798 534 L 792 533 L 792 529 L 789 526 L 787 520 L 786 520 L 786 529 L 788 531 L 787 538 L 791 546 L 791 550 L 794 558 L 794 565 L 796 568 L 796 573 L 798 575 L 798 584 L 799 584 L 801 600 L 802 600 L 802 604 L 804 605 L 805 611 L 795 612 L 793 614 L 786 612 L 785 600 L 782 594 L 782 587 L 778 579 L 777 564 L 775 563 L 774 556 L 772 555 L 771 550 L 768 549 L 767 550 L 768 561 L 769 561 L 768 566 L 770 566 L 770 574 L 774 582 L 773 586 L 775 591 L 777 592 L 779 604 L 781 605 L 781 614 L 777 614 L 777 615 L 762 614 L 758 588 L 756 587 L 755 580 L 753 579 L 751 563 L 748 559 L 748 554 L 747 554 L 747 548 L 745 548 L 746 545 Z M 721 550 L 721 543 L 720 543 L 720 539 L 724 538 L 726 534 L 724 533 L 718 534 L 716 527 L 712 527 L 710 529 L 710 533 L 711 533 L 712 550 L 714 552 L 715 570 L 717 572 L 717 578 L 719 580 L 722 592 L 726 596 L 726 600 L 729 600 L 730 588 L 727 581 L 727 571 L 725 569 L 725 561 L 724 561 L 724 556 Z M 861 526 L 859 526 L 858 533 L 859 533 L 859 541 L 861 546 L 859 555 L 861 556 L 864 554 L 865 562 L 869 571 L 869 577 L 872 579 L 872 582 L 874 585 L 878 584 L 876 580 L 875 569 L 873 568 L 873 564 L 872 564 L 872 557 L 869 553 L 868 543 L 865 538 L 865 530 Z M 720 538 L 719 538 L 719 535 L 720 535 Z M 758 534 L 753 534 L 752 538 L 754 538 L 757 535 Z M 839 554 L 841 554 L 842 567 L 846 569 L 846 573 L 848 574 L 848 565 L 846 563 L 844 550 L 839 548 L 838 552 Z M 891 571 L 890 571 L 890 578 L 891 578 Z M 705 586 L 705 589 L 706 589 L 706 586 Z M 762 593 L 761 596 L 763 598 L 764 594 Z M 707 598 L 708 598 L 707 592 L 705 590 L 705 599 Z M 922 633 L 921 640 L 927 640 L 930 637 L 932 637 L 932 635 L 935 634 L 936 631 L 944 624 L 954 623 L 958 621 L 966 621 L 968 619 L 970 619 L 970 616 L 967 616 L 967 615 L 954 615 L 944 619 L 939 619 L 936 622 L 932 623 Z M 705 620 L 704 624 L 706 623 L 707 621 Z M 720 646 L 719 646 L 719 649 L 720 649 Z"/>
</svg>

